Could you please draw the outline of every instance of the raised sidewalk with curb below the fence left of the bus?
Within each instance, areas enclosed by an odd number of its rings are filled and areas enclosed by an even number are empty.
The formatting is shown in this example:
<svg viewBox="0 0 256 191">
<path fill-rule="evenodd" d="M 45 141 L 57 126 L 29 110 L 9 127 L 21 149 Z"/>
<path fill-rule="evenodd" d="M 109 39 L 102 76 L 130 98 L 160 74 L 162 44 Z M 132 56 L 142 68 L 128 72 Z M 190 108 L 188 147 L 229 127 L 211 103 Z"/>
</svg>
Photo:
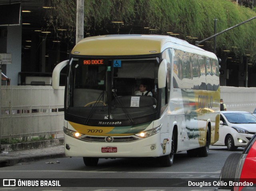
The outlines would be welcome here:
<svg viewBox="0 0 256 191">
<path fill-rule="evenodd" d="M 64 138 L 1 145 L 0 167 L 12 166 L 27 161 L 61 157 L 65 157 Z"/>
</svg>

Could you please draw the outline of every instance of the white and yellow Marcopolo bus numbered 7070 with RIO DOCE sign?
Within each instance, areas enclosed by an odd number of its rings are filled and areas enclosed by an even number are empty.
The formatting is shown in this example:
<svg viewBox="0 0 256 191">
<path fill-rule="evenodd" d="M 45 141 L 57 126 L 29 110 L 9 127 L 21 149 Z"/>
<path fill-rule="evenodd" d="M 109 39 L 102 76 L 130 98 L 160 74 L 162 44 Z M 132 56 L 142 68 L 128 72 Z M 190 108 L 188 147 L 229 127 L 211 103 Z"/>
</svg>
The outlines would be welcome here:
<svg viewBox="0 0 256 191">
<path fill-rule="evenodd" d="M 102 35 L 74 46 L 53 71 L 53 89 L 65 66 L 65 154 L 86 166 L 152 157 L 168 167 L 178 152 L 208 156 L 218 140 L 214 53 L 167 35 Z M 152 96 L 136 95 L 140 84 Z"/>
</svg>

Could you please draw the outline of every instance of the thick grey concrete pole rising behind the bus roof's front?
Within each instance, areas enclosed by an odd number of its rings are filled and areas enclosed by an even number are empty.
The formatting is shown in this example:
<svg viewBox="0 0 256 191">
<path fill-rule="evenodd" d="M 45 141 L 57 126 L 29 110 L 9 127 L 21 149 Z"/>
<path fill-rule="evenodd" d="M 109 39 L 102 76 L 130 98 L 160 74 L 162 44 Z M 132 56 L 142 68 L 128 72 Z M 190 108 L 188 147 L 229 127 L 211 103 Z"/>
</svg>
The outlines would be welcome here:
<svg viewBox="0 0 256 191">
<path fill-rule="evenodd" d="M 76 44 L 84 38 L 84 0 L 76 0 Z"/>
</svg>

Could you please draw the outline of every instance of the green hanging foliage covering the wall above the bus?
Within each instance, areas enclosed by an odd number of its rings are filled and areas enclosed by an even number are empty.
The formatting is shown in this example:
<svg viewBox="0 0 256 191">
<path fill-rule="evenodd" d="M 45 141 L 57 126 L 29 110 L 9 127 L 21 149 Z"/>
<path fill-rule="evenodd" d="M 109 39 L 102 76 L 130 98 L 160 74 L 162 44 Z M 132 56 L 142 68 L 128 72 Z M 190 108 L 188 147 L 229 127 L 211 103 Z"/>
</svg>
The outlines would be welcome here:
<svg viewBox="0 0 256 191">
<path fill-rule="evenodd" d="M 55 9 L 49 12 L 49 27 L 65 27 L 68 29 L 65 36 L 72 37 L 76 30 L 76 1 L 51 0 L 51 6 Z M 255 16 L 255 10 L 232 0 L 84 0 L 84 30 L 90 35 L 108 34 L 113 28 L 116 33 L 127 33 L 135 27 L 149 27 L 156 30 L 141 30 L 141 33 L 179 33 L 178 38 L 194 44 L 186 36 L 198 37 L 198 41 L 210 37 L 214 34 L 214 18 L 218 20 L 218 33 Z M 217 48 L 239 55 L 250 54 L 256 60 L 255 31 L 256 19 L 218 35 Z M 205 48 L 211 50 L 212 43 Z"/>
</svg>

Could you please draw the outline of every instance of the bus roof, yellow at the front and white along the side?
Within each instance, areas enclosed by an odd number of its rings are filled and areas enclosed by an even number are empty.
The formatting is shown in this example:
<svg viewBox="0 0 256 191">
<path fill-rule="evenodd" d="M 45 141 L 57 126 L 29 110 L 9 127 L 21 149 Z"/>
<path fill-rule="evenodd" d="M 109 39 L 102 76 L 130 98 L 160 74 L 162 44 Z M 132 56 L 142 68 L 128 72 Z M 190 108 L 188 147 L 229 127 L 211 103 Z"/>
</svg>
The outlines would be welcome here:
<svg viewBox="0 0 256 191">
<path fill-rule="evenodd" d="M 167 35 L 102 35 L 79 41 L 72 50 L 74 55 L 149 55 L 161 53 L 166 43 L 172 42 L 200 51 L 203 49 L 187 41 Z M 166 47 L 165 47 L 166 48 Z"/>
</svg>

